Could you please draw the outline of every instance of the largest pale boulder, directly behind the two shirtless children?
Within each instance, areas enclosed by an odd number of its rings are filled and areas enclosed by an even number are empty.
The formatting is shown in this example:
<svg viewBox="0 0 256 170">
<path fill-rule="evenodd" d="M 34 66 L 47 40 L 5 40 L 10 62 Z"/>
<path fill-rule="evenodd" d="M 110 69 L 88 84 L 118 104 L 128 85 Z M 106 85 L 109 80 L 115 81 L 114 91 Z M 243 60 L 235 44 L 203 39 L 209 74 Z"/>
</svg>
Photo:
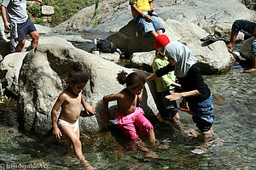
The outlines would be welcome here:
<svg viewBox="0 0 256 170">
<path fill-rule="evenodd" d="M 115 65 L 112 62 L 84 52 L 78 48 L 67 48 L 56 44 L 39 45 L 31 50 L 23 60 L 20 69 L 20 123 L 28 132 L 48 133 L 52 123 L 50 112 L 62 90 L 67 88 L 64 78 L 71 70 L 70 63 L 78 61 L 83 68 L 91 72 L 90 82 L 83 94 L 89 105 L 95 106 L 95 116 L 79 118 L 81 132 L 95 132 L 106 127 L 99 119 L 102 116 L 102 98 L 105 95 L 118 93 L 123 86 L 116 81 L 119 71 L 135 71 Z M 143 91 L 143 110 L 146 116 L 154 117 L 157 113 L 154 104 L 154 82 L 146 84 Z M 110 102 L 110 112 L 114 113 L 116 102 Z"/>
</svg>

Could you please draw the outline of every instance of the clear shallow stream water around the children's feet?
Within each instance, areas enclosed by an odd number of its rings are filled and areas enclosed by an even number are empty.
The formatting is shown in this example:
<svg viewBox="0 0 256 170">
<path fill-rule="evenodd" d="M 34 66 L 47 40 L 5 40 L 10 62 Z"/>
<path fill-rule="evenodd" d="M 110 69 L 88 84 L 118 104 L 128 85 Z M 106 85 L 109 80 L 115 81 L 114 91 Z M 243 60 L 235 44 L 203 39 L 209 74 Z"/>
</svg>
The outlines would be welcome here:
<svg viewBox="0 0 256 170">
<path fill-rule="evenodd" d="M 224 75 L 204 76 L 214 97 L 213 130 L 224 140 L 206 154 L 190 152 L 201 144 L 200 138 L 187 137 L 168 123 L 153 122 L 160 144 L 170 146 L 154 150 L 159 158 L 145 162 L 143 152 L 125 151 L 124 136 L 113 128 L 82 135 L 84 156 L 98 169 L 255 169 L 256 72 L 242 72 L 249 65 L 243 68 L 236 63 Z M 15 111 L 9 110 L 15 108 L 15 103 L 0 106 L 1 166 L 33 164 L 46 165 L 48 169 L 83 169 L 73 152 L 68 151 L 66 139 L 26 135 L 18 130 Z M 180 116 L 185 126 L 196 129 L 191 116 L 184 112 Z"/>
</svg>

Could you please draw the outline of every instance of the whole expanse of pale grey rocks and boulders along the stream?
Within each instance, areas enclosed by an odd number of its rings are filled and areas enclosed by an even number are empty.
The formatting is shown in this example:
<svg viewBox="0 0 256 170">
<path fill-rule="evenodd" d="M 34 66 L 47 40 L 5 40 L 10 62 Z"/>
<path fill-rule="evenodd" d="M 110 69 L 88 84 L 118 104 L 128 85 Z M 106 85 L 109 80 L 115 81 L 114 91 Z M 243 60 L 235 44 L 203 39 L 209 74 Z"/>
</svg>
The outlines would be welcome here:
<svg viewBox="0 0 256 170">
<path fill-rule="evenodd" d="M 219 5 L 219 4 L 222 5 Z M 256 14 L 236 0 L 223 1 L 164 1 L 155 2 L 155 8 L 166 27 L 166 35 L 171 40 L 186 44 L 201 65 L 205 74 L 218 74 L 230 70 L 234 58 L 228 53 L 225 41 L 229 40 L 230 28 L 236 19 L 255 21 Z M 96 116 L 81 116 L 81 130 L 95 132 L 104 129 L 99 117 L 102 115 L 102 97 L 117 93 L 122 86 L 116 80 L 119 71 L 143 69 L 145 74 L 154 57 L 152 38 L 141 35 L 135 37 L 136 26 L 131 18 L 128 1 L 103 1 L 99 7 L 99 25 L 92 29 L 90 16 L 94 6 L 84 8 L 70 20 L 54 29 L 37 26 L 41 37 L 39 46 L 29 50 L 26 42 L 24 52 L 9 54 L 9 35 L 0 40 L 0 78 L 3 89 L 7 89 L 19 98 L 21 126 L 28 132 L 45 134 L 51 127 L 50 110 L 58 94 L 65 88 L 63 79 L 69 71 L 71 61 L 79 61 L 84 69 L 91 72 L 90 82 L 84 88 L 86 101 L 96 107 Z M 3 22 L 1 22 L 3 23 Z M 3 27 L 3 26 L 2 26 Z M 73 34 L 70 34 L 73 31 Z M 74 31 L 93 31 L 111 34 L 108 40 L 114 42 L 126 55 L 131 56 L 131 65 L 127 69 L 116 65 L 101 55 L 90 54 L 73 46 L 72 42 L 90 42 Z M 44 33 L 44 35 L 43 35 Z M 201 42 L 201 37 L 216 33 L 225 41 Z M 65 34 L 65 35 L 64 35 Z M 67 35 L 68 34 L 68 35 Z M 98 36 L 97 33 L 95 34 Z M 243 40 L 240 33 L 238 40 Z M 245 51 L 250 46 L 245 45 Z M 241 53 L 242 54 L 242 53 Z M 245 58 L 251 59 L 249 53 Z M 108 58 L 108 57 L 107 57 Z M 157 109 L 154 102 L 154 83 L 150 82 L 143 92 L 143 110 L 147 116 L 154 117 Z M 109 105 L 111 111 L 115 103 Z"/>
</svg>

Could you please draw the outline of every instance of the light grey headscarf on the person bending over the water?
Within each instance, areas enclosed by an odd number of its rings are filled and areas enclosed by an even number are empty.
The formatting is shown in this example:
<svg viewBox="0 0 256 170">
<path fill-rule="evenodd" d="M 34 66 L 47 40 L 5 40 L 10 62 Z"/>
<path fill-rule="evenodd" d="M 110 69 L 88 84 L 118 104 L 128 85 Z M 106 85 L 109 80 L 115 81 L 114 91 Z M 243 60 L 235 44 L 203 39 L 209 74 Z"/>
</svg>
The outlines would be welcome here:
<svg viewBox="0 0 256 170">
<path fill-rule="evenodd" d="M 174 74 L 177 77 L 185 77 L 189 68 L 196 63 L 194 54 L 181 42 L 172 41 L 168 43 L 164 54 L 176 61 Z"/>
</svg>

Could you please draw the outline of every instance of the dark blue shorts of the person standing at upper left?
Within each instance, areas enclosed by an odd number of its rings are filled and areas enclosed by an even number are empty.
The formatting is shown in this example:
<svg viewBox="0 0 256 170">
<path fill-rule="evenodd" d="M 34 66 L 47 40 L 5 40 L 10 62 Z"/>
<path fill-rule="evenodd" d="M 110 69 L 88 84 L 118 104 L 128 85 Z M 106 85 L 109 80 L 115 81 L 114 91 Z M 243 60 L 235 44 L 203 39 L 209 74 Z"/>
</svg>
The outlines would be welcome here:
<svg viewBox="0 0 256 170">
<path fill-rule="evenodd" d="M 15 38 L 15 41 L 22 41 L 26 38 L 26 35 L 31 33 L 32 31 L 37 31 L 36 27 L 32 23 L 29 18 L 23 22 L 23 23 L 18 23 L 17 24 L 17 32 L 18 32 L 18 37 Z"/>
</svg>

